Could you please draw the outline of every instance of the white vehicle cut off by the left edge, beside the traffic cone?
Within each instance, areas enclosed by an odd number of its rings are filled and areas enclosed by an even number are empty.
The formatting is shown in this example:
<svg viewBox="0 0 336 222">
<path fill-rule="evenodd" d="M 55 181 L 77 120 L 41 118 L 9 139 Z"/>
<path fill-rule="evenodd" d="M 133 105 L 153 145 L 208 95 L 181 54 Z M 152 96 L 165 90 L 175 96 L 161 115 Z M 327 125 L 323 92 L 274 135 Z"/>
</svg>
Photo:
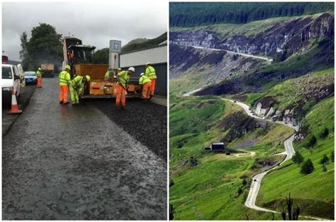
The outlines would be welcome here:
<svg viewBox="0 0 336 222">
<path fill-rule="evenodd" d="M 21 78 L 18 67 L 10 64 L 2 64 L 2 100 L 11 101 L 11 89 L 16 90 L 16 96 L 20 97 Z"/>
</svg>

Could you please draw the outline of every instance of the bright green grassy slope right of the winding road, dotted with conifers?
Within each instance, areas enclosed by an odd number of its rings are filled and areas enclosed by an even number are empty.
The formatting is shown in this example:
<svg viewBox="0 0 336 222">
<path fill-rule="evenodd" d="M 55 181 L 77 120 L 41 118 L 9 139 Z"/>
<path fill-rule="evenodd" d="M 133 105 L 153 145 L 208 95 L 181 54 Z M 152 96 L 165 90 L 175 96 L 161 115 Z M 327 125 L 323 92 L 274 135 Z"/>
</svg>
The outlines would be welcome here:
<svg viewBox="0 0 336 222">
<path fill-rule="evenodd" d="M 313 153 L 310 154 L 306 148 L 299 148 L 305 158 L 313 160 L 315 171 L 310 175 L 302 175 L 298 165 L 289 160 L 282 168 L 265 177 L 257 199 L 259 205 L 281 210 L 284 199 L 291 192 L 295 203 L 301 206 L 303 215 L 334 217 L 334 163 L 327 165 L 327 172 L 323 172 L 322 165 L 318 163 L 323 154 L 330 156 L 334 150 L 333 106 L 334 98 L 327 98 L 315 105 L 306 117 L 310 130 L 316 135 L 324 127 L 331 132 L 326 139 L 318 139 Z M 299 146 L 296 144 L 296 148 Z"/>
</svg>

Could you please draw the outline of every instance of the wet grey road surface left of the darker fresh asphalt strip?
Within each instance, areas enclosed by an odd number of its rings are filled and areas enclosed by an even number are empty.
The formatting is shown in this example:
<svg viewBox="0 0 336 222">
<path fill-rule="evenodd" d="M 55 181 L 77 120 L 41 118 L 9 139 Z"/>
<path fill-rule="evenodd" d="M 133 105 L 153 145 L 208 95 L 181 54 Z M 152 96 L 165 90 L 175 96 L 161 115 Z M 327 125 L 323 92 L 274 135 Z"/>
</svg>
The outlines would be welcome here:
<svg viewBox="0 0 336 222">
<path fill-rule="evenodd" d="M 4 220 L 164 220 L 167 163 L 44 78 L 3 138 Z"/>
</svg>

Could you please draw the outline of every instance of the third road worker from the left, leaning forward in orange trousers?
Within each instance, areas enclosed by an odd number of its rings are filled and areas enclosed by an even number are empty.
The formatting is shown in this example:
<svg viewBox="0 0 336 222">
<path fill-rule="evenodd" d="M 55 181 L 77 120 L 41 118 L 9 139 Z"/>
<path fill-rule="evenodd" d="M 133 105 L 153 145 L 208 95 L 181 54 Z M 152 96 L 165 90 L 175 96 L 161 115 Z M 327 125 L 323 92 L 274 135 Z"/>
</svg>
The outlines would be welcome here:
<svg viewBox="0 0 336 222">
<path fill-rule="evenodd" d="M 126 92 L 128 88 L 128 81 L 130 80 L 130 75 L 135 72 L 134 67 L 128 68 L 128 71 L 121 71 L 118 73 L 118 82 L 116 84 L 116 107 L 121 105 L 121 108 L 125 110 L 126 106 Z"/>
</svg>

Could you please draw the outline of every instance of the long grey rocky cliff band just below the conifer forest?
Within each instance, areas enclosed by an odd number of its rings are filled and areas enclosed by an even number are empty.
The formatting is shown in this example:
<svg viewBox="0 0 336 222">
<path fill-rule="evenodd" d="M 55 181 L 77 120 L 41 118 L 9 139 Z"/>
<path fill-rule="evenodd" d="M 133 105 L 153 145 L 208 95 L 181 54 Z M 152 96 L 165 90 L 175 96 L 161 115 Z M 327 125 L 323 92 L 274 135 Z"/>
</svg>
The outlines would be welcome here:
<svg viewBox="0 0 336 222">
<path fill-rule="evenodd" d="M 227 49 L 268 57 L 279 57 L 279 54 L 284 54 L 282 59 L 285 59 L 312 38 L 333 38 L 334 15 L 323 13 L 318 17 L 306 16 L 284 23 L 274 23 L 263 33 L 255 36 L 234 35 L 220 38 L 217 33 L 208 30 L 172 32 L 169 36 L 169 41 L 173 44 Z"/>
</svg>

